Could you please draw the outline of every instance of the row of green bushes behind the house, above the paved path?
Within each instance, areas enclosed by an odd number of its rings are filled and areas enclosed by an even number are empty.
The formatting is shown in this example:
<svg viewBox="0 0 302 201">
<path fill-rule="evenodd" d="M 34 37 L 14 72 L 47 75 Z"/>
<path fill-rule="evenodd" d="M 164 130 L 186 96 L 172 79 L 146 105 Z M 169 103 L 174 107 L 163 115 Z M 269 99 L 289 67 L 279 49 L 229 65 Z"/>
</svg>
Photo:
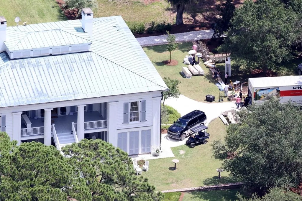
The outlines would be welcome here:
<svg viewBox="0 0 302 201">
<path fill-rule="evenodd" d="M 153 34 L 154 32 L 166 33 L 166 31 L 172 30 L 171 22 L 166 23 L 166 21 L 162 21 L 157 24 L 155 21 L 152 21 L 147 24 L 132 23 L 132 24 L 128 24 L 128 27 L 130 28 L 133 34 L 143 34 L 145 31 L 148 34 Z"/>
</svg>

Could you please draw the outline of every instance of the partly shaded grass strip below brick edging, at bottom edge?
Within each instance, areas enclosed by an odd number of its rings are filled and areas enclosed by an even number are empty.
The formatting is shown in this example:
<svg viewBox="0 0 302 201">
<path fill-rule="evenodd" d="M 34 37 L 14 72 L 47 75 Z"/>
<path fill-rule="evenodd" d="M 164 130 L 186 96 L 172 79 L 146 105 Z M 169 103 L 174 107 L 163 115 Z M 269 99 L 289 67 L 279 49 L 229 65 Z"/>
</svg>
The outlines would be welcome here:
<svg viewBox="0 0 302 201">
<path fill-rule="evenodd" d="M 210 191 L 195 191 L 185 193 L 182 201 L 222 201 L 225 198 L 228 201 L 237 200 L 236 193 L 240 189 L 225 189 L 225 190 L 210 190 Z"/>
</svg>

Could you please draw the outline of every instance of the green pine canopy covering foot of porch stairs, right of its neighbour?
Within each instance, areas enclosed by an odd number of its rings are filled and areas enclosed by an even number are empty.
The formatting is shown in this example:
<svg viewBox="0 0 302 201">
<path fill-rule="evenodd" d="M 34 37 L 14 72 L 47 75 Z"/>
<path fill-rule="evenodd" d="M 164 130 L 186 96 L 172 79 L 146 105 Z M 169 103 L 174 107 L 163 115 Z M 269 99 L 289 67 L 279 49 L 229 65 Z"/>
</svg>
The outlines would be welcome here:
<svg viewBox="0 0 302 201">
<path fill-rule="evenodd" d="M 83 185 L 76 189 L 77 200 L 158 201 L 162 193 L 155 193 L 148 180 L 134 175 L 132 160 L 120 148 L 101 139 L 83 139 L 63 148 L 70 164 L 76 168 Z"/>
</svg>

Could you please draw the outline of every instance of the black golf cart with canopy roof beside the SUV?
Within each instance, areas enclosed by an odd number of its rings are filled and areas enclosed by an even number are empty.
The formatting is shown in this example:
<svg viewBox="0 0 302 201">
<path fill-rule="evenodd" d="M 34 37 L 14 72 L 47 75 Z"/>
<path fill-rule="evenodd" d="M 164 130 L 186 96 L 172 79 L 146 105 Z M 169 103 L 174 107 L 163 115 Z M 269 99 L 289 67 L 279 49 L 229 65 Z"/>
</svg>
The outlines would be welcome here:
<svg viewBox="0 0 302 201">
<path fill-rule="evenodd" d="M 210 134 L 205 132 L 205 129 L 208 129 L 208 127 L 204 125 L 200 125 L 191 129 L 193 135 L 189 137 L 189 139 L 186 141 L 186 144 L 190 145 L 191 148 L 194 148 L 195 145 L 198 145 L 200 143 L 206 144 L 207 139 L 210 138 Z"/>
</svg>

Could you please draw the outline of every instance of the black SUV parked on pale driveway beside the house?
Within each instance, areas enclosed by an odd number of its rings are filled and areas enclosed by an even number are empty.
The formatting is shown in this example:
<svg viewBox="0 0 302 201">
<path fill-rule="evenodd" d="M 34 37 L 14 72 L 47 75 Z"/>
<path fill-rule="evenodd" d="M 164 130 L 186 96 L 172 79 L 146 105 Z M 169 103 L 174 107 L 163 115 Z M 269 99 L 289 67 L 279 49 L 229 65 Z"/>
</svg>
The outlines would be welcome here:
<svg viewBox="0 0 302 201">
<path fill-rule="evenodd" d="M 185 116 L 180 117 L 168 128 L 168 136 L 184 140 L 191 134 L 191 129 L 207 123 L 207 116 L 200 110 L 194 110 Z"/>
</svg>

